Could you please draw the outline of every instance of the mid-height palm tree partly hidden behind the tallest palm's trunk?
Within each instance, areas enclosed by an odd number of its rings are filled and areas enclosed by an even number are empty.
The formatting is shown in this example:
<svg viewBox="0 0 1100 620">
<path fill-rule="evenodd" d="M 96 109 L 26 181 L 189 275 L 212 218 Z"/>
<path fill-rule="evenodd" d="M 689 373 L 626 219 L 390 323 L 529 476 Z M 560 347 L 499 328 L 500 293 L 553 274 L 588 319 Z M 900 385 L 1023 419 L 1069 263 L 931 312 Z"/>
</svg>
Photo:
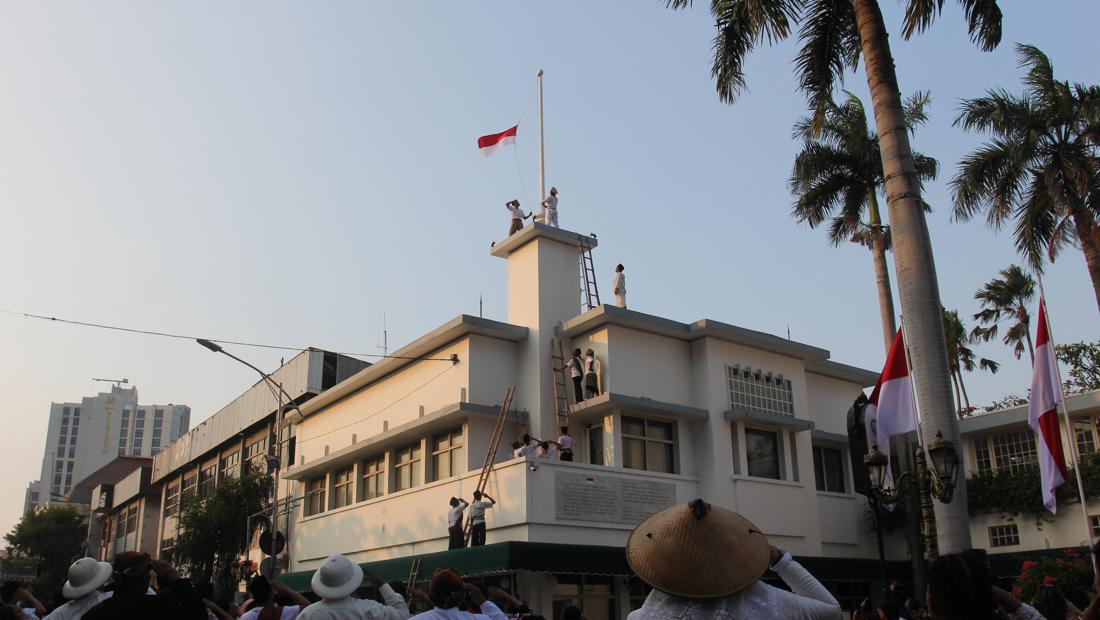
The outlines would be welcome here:
<svg viewBox="0 0 1100 620">
<path fill-rule="evenodd" d="M 882 156 L 878 135 L 867 128 L 864 102 L 850 92 L 847 96 L 840 106 L 832 101 L 826 104 L 817 131 L 810 117 L 794 125 L 794 137 L 802 140 L 802 152 L 794 158 L 791 171 L 791 193 L 798 197 L 792 214 L 810 228 L 828 221 L 828 241 L 833 245 L 851 241 L 870 248 L 879 292 L 882 342 L 889 352 L 898 324 L 887 269 L 890 228 L 882 223 L 879 213 L 878 195 L 884 185 Z M 927 92 L 917 92 L 905 100 L 905 124 L 910 131 L 927 121 L 925 107 L 930 100 Z M 936 178 L 938 164 L 935 159 L 914 153 L 913 160 L 921 180 Z"/>
</svg>

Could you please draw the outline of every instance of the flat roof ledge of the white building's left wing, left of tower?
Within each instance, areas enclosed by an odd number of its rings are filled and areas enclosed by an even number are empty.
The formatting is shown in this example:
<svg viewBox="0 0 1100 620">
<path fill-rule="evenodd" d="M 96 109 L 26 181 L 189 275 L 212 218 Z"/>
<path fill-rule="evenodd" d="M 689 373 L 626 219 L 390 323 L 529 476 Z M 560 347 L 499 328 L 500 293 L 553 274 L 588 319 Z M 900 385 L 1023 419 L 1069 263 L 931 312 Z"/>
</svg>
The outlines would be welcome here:
<svg viewBox="0 0 1100 620">
<path fill-rule="evenodd" d="M 417 362 L 416 357 L 425 357 L 431 352 L 442 348 L 455 340 L 479 334 L 499 340 L 519 342 L 527 339 L 527 328 L 502 323 L 482 317 L 471 317 L 470 314 L 459 314 L 435 330 L 416 339 L 407 345 L 393 352 L 391 357 L 386 357 L 363 368 L 359 373 L 348 377 L 331 388 L 322 391 L 301 406 L 301 416 L 297 412 L 287 416 L 292 423 L 300 423 L 304 417 L 312 416 L 326 407 L 333 405 L 358 392 L 366 386 L 391 375 L 409 364 Z M 444 364 L 446 362 L 438 362 Z"/>
</svg>

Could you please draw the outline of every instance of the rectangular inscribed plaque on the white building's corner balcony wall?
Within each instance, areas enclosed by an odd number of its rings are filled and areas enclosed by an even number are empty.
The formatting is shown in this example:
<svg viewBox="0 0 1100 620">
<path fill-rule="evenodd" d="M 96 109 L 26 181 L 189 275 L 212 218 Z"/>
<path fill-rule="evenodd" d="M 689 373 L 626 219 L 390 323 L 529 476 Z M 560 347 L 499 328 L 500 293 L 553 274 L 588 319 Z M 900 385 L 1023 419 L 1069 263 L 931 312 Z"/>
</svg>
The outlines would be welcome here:
<svg viewBox="0 0 1100 620">
<path fill-rule="evenodd" d="M 554 472 L 558 519 L 636 525 L 675 502 L 673 483 Z"/>
</svg>

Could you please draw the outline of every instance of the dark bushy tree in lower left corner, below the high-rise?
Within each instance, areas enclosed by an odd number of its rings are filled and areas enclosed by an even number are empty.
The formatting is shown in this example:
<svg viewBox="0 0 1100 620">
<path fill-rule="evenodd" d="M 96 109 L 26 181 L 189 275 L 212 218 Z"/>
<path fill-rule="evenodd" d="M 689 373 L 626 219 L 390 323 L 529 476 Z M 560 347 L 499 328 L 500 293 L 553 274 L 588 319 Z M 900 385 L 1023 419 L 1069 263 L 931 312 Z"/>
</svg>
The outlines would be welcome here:
<svg viewBox="0 0 1100 620">
<path fill-rule="evenodd" d="M 4 535 L 8 544 L 41 565 L 38 590 L 57 591 L 69 564 L 84 555 L 88 520 L 68 506 L 51 506 L 20 519 Z"/>
</svg>

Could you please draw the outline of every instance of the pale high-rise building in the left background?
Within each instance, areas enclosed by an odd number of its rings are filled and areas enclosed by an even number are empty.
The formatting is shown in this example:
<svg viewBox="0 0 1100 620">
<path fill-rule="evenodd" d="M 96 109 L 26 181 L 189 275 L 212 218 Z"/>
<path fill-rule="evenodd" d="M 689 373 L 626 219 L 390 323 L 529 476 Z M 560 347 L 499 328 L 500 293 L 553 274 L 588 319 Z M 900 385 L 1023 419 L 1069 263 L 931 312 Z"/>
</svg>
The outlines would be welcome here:
<svg viewBox="0 0 1100 620">
<path fill-rule="evenodd" d="M 186 405 L 139 405 L 136 387 L 52 403 L 37 503 L 58 501 L 118 456 L 153 456 L 187 432 L 190 417 Z"/>
</svg>

